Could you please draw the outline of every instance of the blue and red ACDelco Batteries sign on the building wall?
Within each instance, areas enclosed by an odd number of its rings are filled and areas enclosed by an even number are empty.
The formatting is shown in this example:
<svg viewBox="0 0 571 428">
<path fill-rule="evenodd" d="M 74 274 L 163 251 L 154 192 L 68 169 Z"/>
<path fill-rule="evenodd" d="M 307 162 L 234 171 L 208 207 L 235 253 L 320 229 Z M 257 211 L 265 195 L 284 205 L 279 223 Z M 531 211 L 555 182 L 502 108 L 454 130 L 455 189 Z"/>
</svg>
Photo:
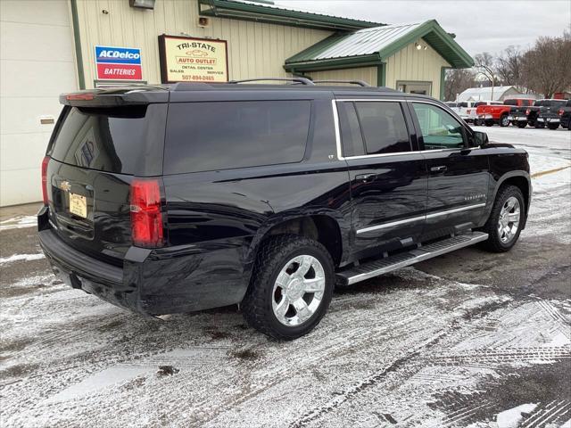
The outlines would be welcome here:
<svg viewBox="0 0 571 428">
<path fill-rule="evenodd" d="M 137 47 L 95 46 L 97 80 L 142 80 L 141 50 Z"/>
</svg>

